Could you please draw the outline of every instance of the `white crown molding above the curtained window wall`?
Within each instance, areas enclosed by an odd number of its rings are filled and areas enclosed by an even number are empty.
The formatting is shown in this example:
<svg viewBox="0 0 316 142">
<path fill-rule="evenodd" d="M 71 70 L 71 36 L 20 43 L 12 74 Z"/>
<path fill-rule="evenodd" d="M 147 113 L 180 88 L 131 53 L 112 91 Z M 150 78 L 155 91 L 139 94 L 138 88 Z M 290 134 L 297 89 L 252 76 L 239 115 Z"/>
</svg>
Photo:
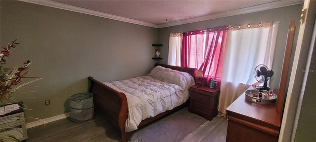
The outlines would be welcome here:
<svg viewBox="0 0 316 142">
<path fill-rule="evenodd" d="M 240 15 L 240 14 L 264 11 L 264 10 L 269 10 L 269 9 L 274 9 L 274 8 L 279 8 L 279 7 L 301 4 L 303 2 L 304 1 L 302 0 L 300 1 L 280 0 L 280 1 L 270 2 L 270 3 L 255 5 L 251 7 L 216 13 L 212 15 L 206 15 L 206 16 L 195 17 L 195 18 L 190 18 L 190 19 L 176 21 L 176 22 L 170 22 L 166 24 L 160 24 L 158 25 L 158 28 L 165 28 L 165 27 L 177 26 L 177 25 L 182 25 L 182 24 L 189 24 L 189 23 L 194 23 L 194 22 L 211 20 L 211 19 L 216 19 L 216 18 L 223 18 L 223 17 L 228 17 L 228 16 L 235 16 L 235 15 Z"/>
</svg>

